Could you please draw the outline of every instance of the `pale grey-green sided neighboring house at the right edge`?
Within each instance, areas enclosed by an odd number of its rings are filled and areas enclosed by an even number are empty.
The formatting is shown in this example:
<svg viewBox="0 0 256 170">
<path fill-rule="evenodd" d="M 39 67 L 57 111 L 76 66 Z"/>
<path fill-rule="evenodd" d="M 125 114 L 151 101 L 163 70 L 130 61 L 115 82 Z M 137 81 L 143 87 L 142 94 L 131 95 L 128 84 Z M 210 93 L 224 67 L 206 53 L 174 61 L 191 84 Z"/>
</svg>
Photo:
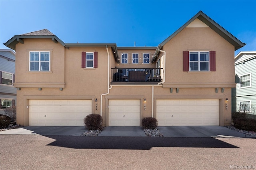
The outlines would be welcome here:
<svg viewBox="0 0 256 170">
<path fill-rule="evenodd" d="M 256 114 L 256 51 L 235 56 L 236 88 L 232 89 L 232 112 Z"/>
</svg>

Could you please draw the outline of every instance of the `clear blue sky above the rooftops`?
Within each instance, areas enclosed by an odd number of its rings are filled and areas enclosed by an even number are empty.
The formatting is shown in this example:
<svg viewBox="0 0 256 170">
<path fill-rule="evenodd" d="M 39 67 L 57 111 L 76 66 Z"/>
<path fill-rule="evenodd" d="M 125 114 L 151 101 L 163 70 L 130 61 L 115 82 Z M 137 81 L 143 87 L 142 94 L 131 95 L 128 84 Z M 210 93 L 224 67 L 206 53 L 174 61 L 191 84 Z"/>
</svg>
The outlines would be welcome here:
<svg viewBox="0 0 256 170">
<path fill-rule="evenodd" d="M 256 0 L 0 0 L 0 48 L 48 29 L 64 43 L 157 46 L 200 10 L 256 51 Z"/>
</svg>

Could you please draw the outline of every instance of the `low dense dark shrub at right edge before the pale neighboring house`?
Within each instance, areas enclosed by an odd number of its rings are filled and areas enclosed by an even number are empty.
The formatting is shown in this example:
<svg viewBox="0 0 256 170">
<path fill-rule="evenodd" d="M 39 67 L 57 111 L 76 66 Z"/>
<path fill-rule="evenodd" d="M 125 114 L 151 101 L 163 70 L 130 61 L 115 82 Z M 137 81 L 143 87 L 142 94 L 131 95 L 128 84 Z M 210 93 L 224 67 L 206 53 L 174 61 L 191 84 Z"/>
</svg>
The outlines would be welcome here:
<svg viewBox="0 0 256 170">
<path fill-rule="evenodd" d="M 256 132 L 256 120 L 255 119 L 234 119 L 234 126 L 236 128 L 254 131 Z"/>
</svg>

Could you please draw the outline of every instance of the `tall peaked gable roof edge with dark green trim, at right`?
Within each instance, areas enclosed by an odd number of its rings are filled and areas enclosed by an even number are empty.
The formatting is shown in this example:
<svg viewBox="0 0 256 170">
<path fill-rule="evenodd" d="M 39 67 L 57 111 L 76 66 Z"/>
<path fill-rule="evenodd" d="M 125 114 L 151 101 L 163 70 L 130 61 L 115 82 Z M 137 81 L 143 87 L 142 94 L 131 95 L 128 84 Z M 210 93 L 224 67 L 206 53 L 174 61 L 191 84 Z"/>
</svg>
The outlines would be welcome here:
<svg viewBox="0 0 256 170">
<path fill-rule="evenodd" d="M 198 12 L 194 17 L 192 17 L 188 22 L 186 22 L 182 27 L 180 27 L 176 32 L 174 32 L 172 35 L 170 35 L 168 38 L 166 38 L 162 43 L 158 45 L 158 49 L 161 49 L 168 41 L 170 41 L 174 36 L 176 36 L 178 33 L 180 33 L 184 28 L 193 26 L 196 22 L 199 23 L 200 20 L 201 26 L 202 24 L 210 27 L 212 30 L 214 30 L 217 34 L 222 36 L 225 40 L 227 40 L 229 43 L 234 45 L 235 51 L 244 45 L 246 43 L 242 43 L 240 40 L 238 40 L 236 37 L 234 37 L 232 34 L 230 34 L 227 30 L 222 28 L 219 24 L 217 24 L 214 20 L 212 20 L 210 17 L 208 17 L 206 14 L 204 14 L 202 11 Z M 156 50 L 154 57 L 151 62 L 153 62 L 156 59 L 157 54 L 159 53 L 159 50 Z"/>
</svg>

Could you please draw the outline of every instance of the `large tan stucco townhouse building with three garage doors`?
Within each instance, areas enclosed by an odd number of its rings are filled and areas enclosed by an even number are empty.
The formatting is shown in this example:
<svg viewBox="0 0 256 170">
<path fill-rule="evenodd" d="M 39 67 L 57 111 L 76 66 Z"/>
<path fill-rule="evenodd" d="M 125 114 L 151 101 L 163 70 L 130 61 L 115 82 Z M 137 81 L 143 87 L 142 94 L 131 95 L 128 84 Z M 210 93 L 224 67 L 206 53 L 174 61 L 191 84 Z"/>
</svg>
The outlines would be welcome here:
<svg viewBox="0 0 256 170">
<path fill-rule="evenodd" d="M 158 47 L 64 43 L 48 30 L 14 36 L 17 123 L 83 126 L 231 124 L 234 51 L 245 44 L 198 12 Z"/>
</svg>

